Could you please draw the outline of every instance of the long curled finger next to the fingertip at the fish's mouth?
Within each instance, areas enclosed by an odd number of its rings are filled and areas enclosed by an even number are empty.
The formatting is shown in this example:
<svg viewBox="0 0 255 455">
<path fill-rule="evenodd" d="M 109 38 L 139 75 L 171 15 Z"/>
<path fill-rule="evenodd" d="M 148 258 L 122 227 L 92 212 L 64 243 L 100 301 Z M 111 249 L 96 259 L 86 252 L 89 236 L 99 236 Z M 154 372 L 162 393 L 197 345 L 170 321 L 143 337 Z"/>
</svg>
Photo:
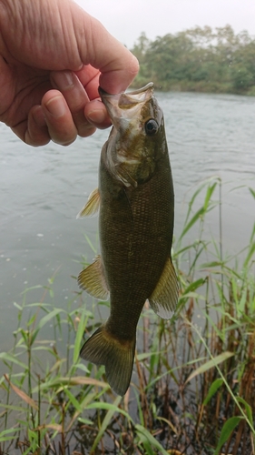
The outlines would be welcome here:
<svg viewBox="0 0 255 455">
<path fill-rule="evenodd" d="M 51 74 L 53 86 L 58 88 L 70 109 L 77 134 L 82 137 L 91 136 L 94 127 L 84 116 L 84 107 L 89 97 L 79 78 L 72 71 L 54 71 Z"/>
</svg>

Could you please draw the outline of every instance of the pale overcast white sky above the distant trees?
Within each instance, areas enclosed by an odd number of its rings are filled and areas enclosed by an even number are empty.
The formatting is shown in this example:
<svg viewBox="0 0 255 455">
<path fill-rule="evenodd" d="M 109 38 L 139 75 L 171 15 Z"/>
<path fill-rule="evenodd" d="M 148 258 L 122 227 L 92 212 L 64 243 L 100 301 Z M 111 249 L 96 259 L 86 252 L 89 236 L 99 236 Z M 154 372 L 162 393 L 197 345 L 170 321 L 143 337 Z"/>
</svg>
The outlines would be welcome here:
<svg viewBox="0 0 255 455">
<path fill-rule="evenodd" d="M 145 32 L 156 36 L 181 32 L 195 25 L 222 27 L 255 36 L 255 0 L 75 0 L 96 17 L 123 45 Z"/>
</svg>

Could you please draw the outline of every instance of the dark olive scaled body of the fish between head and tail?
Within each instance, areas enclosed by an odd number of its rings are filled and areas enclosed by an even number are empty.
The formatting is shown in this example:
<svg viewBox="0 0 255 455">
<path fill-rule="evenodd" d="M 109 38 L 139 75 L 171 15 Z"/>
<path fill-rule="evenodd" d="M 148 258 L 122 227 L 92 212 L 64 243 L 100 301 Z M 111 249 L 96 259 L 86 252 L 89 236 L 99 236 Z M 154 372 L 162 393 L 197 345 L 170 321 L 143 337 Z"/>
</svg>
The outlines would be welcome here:
<svg viewBox="0 0 255 455">
<path fill-rule="evenodd" d="M 173 188 L 167 149 L 151 180 L 136 188 L 114 181 L 103 156 L 100 175 L 100 238 L 111 289 L 107 327 L 129 339 L 171 256 Z"/>
</svg>

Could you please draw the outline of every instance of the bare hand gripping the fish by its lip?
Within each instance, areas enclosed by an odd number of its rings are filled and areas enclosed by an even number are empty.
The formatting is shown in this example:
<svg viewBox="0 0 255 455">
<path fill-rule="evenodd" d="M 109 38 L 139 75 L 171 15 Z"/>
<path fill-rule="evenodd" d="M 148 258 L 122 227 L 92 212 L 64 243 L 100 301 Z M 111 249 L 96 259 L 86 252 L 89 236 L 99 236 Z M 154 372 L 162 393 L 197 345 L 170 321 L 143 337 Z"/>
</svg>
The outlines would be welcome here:
<svg viewBox="0 0 255 455">
<path fill-rule="evenodd" d="M 0 0 L 0 121 L 26 144 L 67 146 L 110 126 L 98 86 L 120 93 L 138 67 L 72 0 Z"/>
</svg>

